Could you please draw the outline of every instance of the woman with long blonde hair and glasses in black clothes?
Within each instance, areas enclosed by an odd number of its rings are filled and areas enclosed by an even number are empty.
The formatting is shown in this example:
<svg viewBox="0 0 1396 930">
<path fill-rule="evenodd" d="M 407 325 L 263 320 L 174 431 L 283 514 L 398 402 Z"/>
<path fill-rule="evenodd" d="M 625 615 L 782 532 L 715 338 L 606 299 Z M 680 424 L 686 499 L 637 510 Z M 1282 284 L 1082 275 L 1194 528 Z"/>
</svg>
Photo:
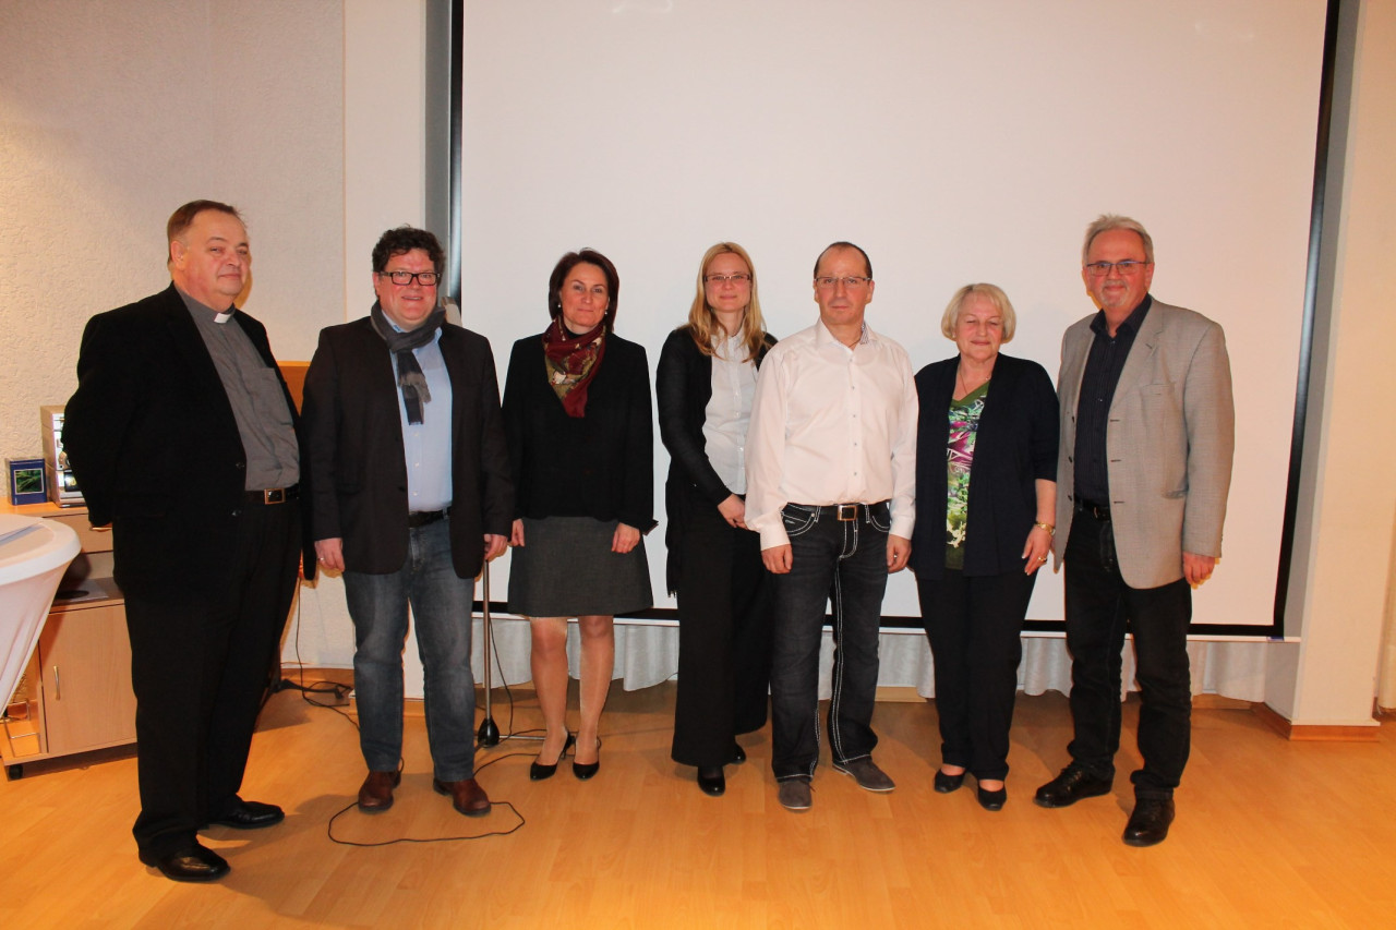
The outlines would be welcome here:
<svg viewBox="0 0 1396 930">
<path fill-rule="evenodd" d="M 698 768 L 708 795 L 726 790 L 723 765 L 745 760 L 737 735 L 766 722 L 771 592 L 743 496 L 757 367 L 773 344 L 751 257 L 718 243 L 702 257 L 688 323 L 664 341 L 656 377 L 670 455 L 667 580 L 680 617 L 671 754 Z"/>
</svg>

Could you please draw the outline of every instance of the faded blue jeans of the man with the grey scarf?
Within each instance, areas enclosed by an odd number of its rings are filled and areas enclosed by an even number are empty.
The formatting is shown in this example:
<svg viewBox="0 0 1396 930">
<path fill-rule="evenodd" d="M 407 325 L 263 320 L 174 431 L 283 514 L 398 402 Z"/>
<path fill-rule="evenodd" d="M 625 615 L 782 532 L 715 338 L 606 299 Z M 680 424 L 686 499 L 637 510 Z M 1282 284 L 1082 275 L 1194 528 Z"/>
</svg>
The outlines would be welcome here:
<svg viewBox="0 0 1396 930">
<path fill-rule="evenodd" d="M 443 782 L 475 778 L 475 676 L 470 672 L 473 578 L 451 564 L 451 524 L 409 529 L 408 559 L 398 571 L 345 573 L 353 617 L 353 686 L 359 746 L 374 772 L 396 771 L 402 755 L 402 644 L 408 605 L 422 658 L 427 743 L 433 774 Z"/>
</svg>

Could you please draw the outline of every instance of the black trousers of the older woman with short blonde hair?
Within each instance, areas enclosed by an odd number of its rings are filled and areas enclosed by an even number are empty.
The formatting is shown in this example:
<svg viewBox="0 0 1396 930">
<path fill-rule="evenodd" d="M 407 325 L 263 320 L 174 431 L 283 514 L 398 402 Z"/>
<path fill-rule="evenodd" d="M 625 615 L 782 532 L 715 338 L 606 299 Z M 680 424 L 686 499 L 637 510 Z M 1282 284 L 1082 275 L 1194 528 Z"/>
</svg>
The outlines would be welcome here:
<svg viewBox="0 0 1396 930">
<path fill-rule="evenodd" d="M 1037 573 L 1020 570 L 969 577 L 945 568 L 938 580 L 916 578 L 935 667 L 941 761 L 974 778 L 1008 776 L 1023 617 L 1036 582 Z"/>
</svg>

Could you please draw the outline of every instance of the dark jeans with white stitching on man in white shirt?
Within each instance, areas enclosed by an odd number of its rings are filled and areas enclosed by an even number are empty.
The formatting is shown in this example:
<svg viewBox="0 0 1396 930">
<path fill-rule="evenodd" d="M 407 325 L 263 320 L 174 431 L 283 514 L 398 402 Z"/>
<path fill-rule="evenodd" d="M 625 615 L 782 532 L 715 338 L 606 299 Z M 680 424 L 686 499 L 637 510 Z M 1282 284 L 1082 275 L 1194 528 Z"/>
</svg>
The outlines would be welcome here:
<svg viewBox="0 0 1396 930">
<path fill-rule="evenodd" d="M 831 508 L 787 504 L 790 573 L 775 575 L 771 663 L 772 760 L 776 779 L 814 775 L 819 761 L 819 641 L 833 600 L 833 694 L 829 746 L 835 762 L 872 754 L 878 626 L 886 591 L 886 501 L 836 519 Z"/>
</svg>

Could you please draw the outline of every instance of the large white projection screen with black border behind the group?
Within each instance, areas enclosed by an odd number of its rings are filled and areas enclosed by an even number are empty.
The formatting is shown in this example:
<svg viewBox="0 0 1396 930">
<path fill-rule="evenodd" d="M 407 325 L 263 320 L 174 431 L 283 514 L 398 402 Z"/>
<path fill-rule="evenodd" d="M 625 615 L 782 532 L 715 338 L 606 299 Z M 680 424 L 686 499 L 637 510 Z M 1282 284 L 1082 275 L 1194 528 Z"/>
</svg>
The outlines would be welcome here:
<svg viewBox="0 0 1396 930">
<path fill-rule="evenodd" d="M 1153 293 L 1217 320 L 1231 353 L 1224 556 L 1195 623 L 1269 627 L 1323 27 L 1322 0 L 466 0 L 465 325 L 503 384 L 512 342 L 547 323 L 553 264 L 591 246 L 653 369 L 708 246 L 747 247 L 780 337 L 817 318 L 814 260 L 847 239 L 874 264 L 868 324 L 913 367 L 953 355 L 945 303 L 988 281 L 1018 311 L 1005 352 L 1055 378 L 1062 331 L 1093 311 L 1082 232 L 1135 216 Z M 656 429 L 660 521 L 667 468 Z M 646 547 L 663 616 L 662 528 Z M 507 577 L 505 557 L 494 599 Z M 884 614 L 919 626 L 909 573 Z M 1029 619 L 1061 616 L 1044 573 Z"/>
</svg>

